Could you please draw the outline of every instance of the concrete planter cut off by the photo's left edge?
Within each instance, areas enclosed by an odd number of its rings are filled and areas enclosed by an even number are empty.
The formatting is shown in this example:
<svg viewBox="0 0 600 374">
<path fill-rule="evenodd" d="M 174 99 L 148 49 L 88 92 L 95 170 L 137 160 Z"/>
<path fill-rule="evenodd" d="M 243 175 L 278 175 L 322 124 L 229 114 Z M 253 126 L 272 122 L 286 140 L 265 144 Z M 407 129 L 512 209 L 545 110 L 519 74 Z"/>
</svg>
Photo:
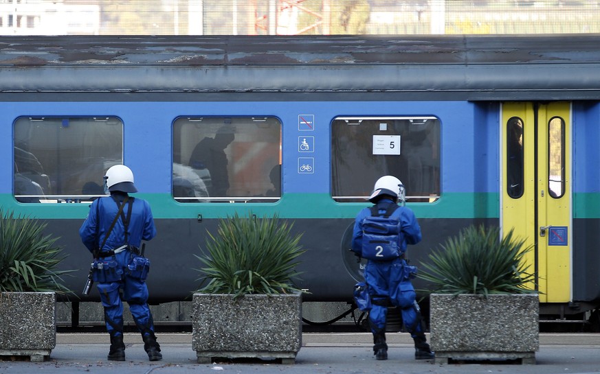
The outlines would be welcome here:
<svg viewBox="0 0 600 374">
<path fill-rule="evenodd" d="M 0 292 L 0 355 L 43 362 L 56 347 L 54 292 Z"/>
</svg>

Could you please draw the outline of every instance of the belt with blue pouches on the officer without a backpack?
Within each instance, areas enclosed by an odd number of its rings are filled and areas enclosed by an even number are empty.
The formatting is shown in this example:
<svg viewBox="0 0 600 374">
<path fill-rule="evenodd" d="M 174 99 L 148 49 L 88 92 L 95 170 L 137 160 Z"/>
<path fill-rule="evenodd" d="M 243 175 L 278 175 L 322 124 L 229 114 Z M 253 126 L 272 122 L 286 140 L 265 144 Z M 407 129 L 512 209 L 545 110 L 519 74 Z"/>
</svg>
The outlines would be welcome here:
<svg viewBox="0 0 600 374">
<path fill-rule="evenodd" d="M 129 250 L 126 268 L 120 266 L 115 255 L 124 250 Z M 143 252 L 143 250 L 142 250 Z M 111 283 L 130 277 L 146 280 L 150 272 L 150 260 L 141 255 L 140 249 L 134 246 L 124 245 L 113 250 L 94 251 L 93 281 L 98 283 Z"/>
</svg>

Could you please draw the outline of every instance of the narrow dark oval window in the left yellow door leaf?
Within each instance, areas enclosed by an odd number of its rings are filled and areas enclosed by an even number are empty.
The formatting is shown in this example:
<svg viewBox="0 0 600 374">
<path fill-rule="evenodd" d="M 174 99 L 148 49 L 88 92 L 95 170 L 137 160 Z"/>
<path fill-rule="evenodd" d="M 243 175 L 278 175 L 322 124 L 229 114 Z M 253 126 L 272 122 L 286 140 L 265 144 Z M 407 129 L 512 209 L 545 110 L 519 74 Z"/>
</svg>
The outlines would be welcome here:
<svg viewBox="0 0 600 374">
<path fill-rule="evenodd" d="M 517 199 L 524 192 L 523 120 L 512 117 L 507 122 L 507 193 Z"/>
</svg>

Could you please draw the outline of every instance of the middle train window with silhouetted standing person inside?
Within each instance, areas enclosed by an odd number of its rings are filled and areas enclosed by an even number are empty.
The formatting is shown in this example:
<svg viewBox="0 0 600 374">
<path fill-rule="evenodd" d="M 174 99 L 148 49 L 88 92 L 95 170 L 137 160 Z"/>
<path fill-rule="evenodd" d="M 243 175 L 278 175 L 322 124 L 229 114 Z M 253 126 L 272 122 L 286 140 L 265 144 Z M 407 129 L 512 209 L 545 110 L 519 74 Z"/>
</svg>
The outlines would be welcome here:
<svg viewBox="0 0 600 374">
<path fill-rule="evenodd" d="M 276 202 L 281 122 L 274 117 L 180 117 L 173 124 L 178 202 Z"/>
</svg>

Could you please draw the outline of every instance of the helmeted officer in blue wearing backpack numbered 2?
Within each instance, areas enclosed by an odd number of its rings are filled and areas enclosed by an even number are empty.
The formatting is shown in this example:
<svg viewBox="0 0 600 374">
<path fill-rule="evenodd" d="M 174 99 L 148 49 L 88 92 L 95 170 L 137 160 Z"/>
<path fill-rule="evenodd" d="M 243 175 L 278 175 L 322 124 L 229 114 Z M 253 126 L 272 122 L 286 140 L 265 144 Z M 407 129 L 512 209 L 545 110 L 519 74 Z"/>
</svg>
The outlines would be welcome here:
<svg viewBox="0 0 600 374">
<path fill-rule="evenodd" d="M 407 244 L 421 242 L 421 227 L 410 208 L 398 205 L 405 201 L 404 186 L 395 176 L 382 176 L 368 200 L 374 205 L 357 214 L 351 250 L 368 259 L 364 278 L 370 299 L 373 354 L 377 360 L 388 359 L 386 319 L 391 304 L 400 308 L 403 323 L 414 340 L 414 358 L 434 358 L 410 281 L 416 267 L 408 266 L 405 260 Z M 382 227 L 385 229 L 380 231 Z"/>
</svg>

